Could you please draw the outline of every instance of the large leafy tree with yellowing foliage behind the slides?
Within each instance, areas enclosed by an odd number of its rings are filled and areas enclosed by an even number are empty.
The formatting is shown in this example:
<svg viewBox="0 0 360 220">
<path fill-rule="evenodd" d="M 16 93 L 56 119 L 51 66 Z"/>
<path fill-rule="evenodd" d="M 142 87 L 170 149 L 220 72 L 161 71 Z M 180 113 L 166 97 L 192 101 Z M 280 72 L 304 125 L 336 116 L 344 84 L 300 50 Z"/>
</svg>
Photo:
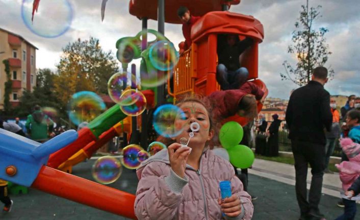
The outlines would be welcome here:
<svg viewBox="0 0 360 220">
<path fill-rule="evenodd" d="M 108 80 L 119 69 L 111 51 L 102 51 L 99 40 L 93 37 L 85 41 L 79 38 L 63 48 L 57 68 L 55 90 L 63 105 L 78 91 L 108 93 Z"/>
</svg>

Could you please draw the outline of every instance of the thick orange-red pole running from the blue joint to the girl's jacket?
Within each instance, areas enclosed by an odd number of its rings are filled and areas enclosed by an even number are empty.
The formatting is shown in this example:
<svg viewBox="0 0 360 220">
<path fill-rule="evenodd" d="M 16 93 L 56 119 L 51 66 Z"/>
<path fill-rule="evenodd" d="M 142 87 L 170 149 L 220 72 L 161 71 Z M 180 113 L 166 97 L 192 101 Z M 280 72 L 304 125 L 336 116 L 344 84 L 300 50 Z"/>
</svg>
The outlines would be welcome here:
<svg viewBox="0 0 360 220">
<path fill-rule="evenodd" d="M 43 166 L 33 188 L 117 215 L 137 219 L 135 195 Z"/>
</svg>

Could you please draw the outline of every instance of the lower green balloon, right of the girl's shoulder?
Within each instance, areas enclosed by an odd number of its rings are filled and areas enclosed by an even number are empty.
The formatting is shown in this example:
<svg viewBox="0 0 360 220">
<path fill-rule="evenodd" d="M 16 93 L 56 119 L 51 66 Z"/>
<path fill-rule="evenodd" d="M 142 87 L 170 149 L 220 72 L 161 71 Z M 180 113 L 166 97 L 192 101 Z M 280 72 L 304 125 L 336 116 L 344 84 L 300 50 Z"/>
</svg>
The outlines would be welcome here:
<svg viewBox="0 0 360 220">
<path fill-rule="evenodd" d="M 245 145 L 233 146 L 227 149 L 227 153 L 229 153 L 230 163 L 241 169 L 249 168 L 255 159 L 252 150 Z"/>
</svg>

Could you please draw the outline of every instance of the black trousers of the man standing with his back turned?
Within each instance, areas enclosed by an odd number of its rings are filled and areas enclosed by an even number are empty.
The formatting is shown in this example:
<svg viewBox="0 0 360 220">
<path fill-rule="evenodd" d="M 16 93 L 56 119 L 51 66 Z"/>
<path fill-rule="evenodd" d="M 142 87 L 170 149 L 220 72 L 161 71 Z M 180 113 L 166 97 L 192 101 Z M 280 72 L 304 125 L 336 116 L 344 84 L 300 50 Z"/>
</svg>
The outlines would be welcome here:
<svg viewBox="0 0 360 220">
<path fill-rule="evenodd" d="M 295 189 L 300 211 L 301 213 L 307 213 L 310 210 L 318 211 L 325 169 L 325 144 L 292 140 L 291 148 L 295 159 Z M 307 164 L 310 164 L 313 175 L 308 200 L 306 196 Z"/>
</svg>

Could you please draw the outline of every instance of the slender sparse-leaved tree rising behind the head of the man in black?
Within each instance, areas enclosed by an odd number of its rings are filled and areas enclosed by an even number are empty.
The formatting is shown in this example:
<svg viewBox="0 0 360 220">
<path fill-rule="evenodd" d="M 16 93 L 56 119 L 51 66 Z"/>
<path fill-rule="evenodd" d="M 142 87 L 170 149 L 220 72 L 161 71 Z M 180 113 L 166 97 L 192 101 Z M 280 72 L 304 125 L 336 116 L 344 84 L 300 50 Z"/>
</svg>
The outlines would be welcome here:
<svg viewBox="0 0 360 220">
<path fill-rule="evenodd" d="M 290 80 L 299 86 L 306 85 L 311 80 L 313 69 L 317 66 L 324 66 L 331 54 L 329 46 L 326 44 L 325 34 L 327 28 L 314 29 L 314 22 L 321 17 L 319 5 L 316 8 L 301 6 L 300 17 L 295 22 L 296 30 L 292 33 L 293 45 L 289 45 L 288 53 L 296 54 L 297 64 L 294 68 L 288 61 L 282 65 L 285 67 L 286 74 L 281 74 L 281 80 Z M 329 67 L 329 78 L 333 78 L 334 70 Z"/>
</svg>

